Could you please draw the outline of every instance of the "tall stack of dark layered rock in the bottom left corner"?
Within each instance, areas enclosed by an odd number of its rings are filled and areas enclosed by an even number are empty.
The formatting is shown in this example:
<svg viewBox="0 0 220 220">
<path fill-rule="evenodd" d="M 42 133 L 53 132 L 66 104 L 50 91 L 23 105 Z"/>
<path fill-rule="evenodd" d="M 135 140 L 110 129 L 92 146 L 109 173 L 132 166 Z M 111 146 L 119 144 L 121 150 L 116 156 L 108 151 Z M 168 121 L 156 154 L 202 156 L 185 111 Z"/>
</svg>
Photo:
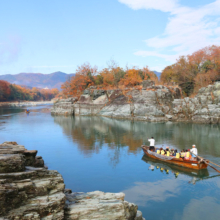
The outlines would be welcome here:
<svg viewBox="0 0 220 220">
<path fill-rule="evenodd" d="M 0 216 L 2 219 L 63 219 L 62 176 L 16 142 L 0 145 Z M 4 216 L 4 217 L 3 217 Z"/>
</svg>

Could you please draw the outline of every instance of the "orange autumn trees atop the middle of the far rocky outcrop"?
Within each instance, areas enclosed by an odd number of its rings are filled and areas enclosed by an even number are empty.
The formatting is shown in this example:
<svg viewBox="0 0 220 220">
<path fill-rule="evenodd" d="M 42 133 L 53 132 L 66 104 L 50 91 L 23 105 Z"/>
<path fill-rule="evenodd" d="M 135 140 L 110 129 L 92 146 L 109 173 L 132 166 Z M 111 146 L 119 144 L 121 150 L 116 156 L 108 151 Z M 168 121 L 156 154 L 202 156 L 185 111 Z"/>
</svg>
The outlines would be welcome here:
<svg viewBox="0 0 220 220">
<path fill-rule="evenodd" d="M 111 61 L 108 68 L 98 72 L 97 67 L 91 67 L 86 63 L 79 66 L 75 76 L 67 80 L 61 88 L 65 96 L 80 96 L 90 86 L 96 86 L 99 89 L 125 89 L 125 87 L 136 87 L 143 80 L 158 82 L 156 74 L 147 66 L 143 69 L 132 68 L 125 71 Z M 141 89 L 140 86 L 138 89 Z"/>
</svg>

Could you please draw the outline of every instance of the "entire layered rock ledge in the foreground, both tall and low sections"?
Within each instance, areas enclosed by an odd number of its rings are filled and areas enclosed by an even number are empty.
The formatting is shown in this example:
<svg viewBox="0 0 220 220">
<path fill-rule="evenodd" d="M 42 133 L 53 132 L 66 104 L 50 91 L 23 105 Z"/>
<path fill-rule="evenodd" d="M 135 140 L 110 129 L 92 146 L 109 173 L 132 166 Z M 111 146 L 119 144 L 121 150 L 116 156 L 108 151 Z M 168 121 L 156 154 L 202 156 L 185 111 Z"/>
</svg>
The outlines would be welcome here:
<svg viewBox="0 0 220 220">
<path fill-rule="evenodd" d="M 0 220 L 143 220 L 124 193 L 72 193 L 48 170 L 37 151 L 16 142 L 0 144 Z"/>
</svg>

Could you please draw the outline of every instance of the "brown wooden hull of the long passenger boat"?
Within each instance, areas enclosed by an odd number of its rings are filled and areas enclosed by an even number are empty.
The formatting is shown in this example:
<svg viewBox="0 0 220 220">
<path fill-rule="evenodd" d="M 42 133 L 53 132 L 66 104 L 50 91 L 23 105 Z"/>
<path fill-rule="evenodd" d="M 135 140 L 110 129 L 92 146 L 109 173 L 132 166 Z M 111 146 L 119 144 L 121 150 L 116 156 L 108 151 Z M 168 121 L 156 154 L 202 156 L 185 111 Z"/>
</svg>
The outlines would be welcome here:
<svg viewBox="0 0 220 220">
<path fill-rule="evenodd" d="M 181 167 L 187 167 L 194 170 L 201 170 L 205 169 L 208 166 L 209 161 L 195 161 L 195 160 L 184 160 L 182 158 L 175 158 L 172 156 L 165 156 L 161 154 L 157 154 L 156 152 L 150 151 L 148 146 L 142 145 L 141 148 L 143 149 L 144 153 L 153 159 L 157 159 L 160 161 L 164 161 L 166 163 L 174 164 Z"/>
</svg>

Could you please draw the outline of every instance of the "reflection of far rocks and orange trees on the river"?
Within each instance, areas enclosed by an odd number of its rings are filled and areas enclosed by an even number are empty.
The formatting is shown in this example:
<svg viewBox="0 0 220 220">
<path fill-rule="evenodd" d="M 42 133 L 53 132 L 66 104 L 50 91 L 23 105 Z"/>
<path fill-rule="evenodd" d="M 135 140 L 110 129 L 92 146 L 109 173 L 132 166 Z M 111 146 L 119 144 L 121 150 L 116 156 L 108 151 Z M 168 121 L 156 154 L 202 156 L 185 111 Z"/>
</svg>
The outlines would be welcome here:
<svg viewBox="0 0 220 220">
<path fill-rule="evenodd" d="M 200 155 L 220 156 L 219 125 L 184 123 L 147 123 L 123 121 L 104 117 L 63 117 L 55 116 L 64 133 L 79 143 L 86 154 L 97 152 L 103 144 L 109 148 L 128 146 L 128 152 L 140 152 L 142 144 L 154 136 L 156 145 L 169 145 L 172 148 L 189 149 L 196 144 Z"/>
</svg>

